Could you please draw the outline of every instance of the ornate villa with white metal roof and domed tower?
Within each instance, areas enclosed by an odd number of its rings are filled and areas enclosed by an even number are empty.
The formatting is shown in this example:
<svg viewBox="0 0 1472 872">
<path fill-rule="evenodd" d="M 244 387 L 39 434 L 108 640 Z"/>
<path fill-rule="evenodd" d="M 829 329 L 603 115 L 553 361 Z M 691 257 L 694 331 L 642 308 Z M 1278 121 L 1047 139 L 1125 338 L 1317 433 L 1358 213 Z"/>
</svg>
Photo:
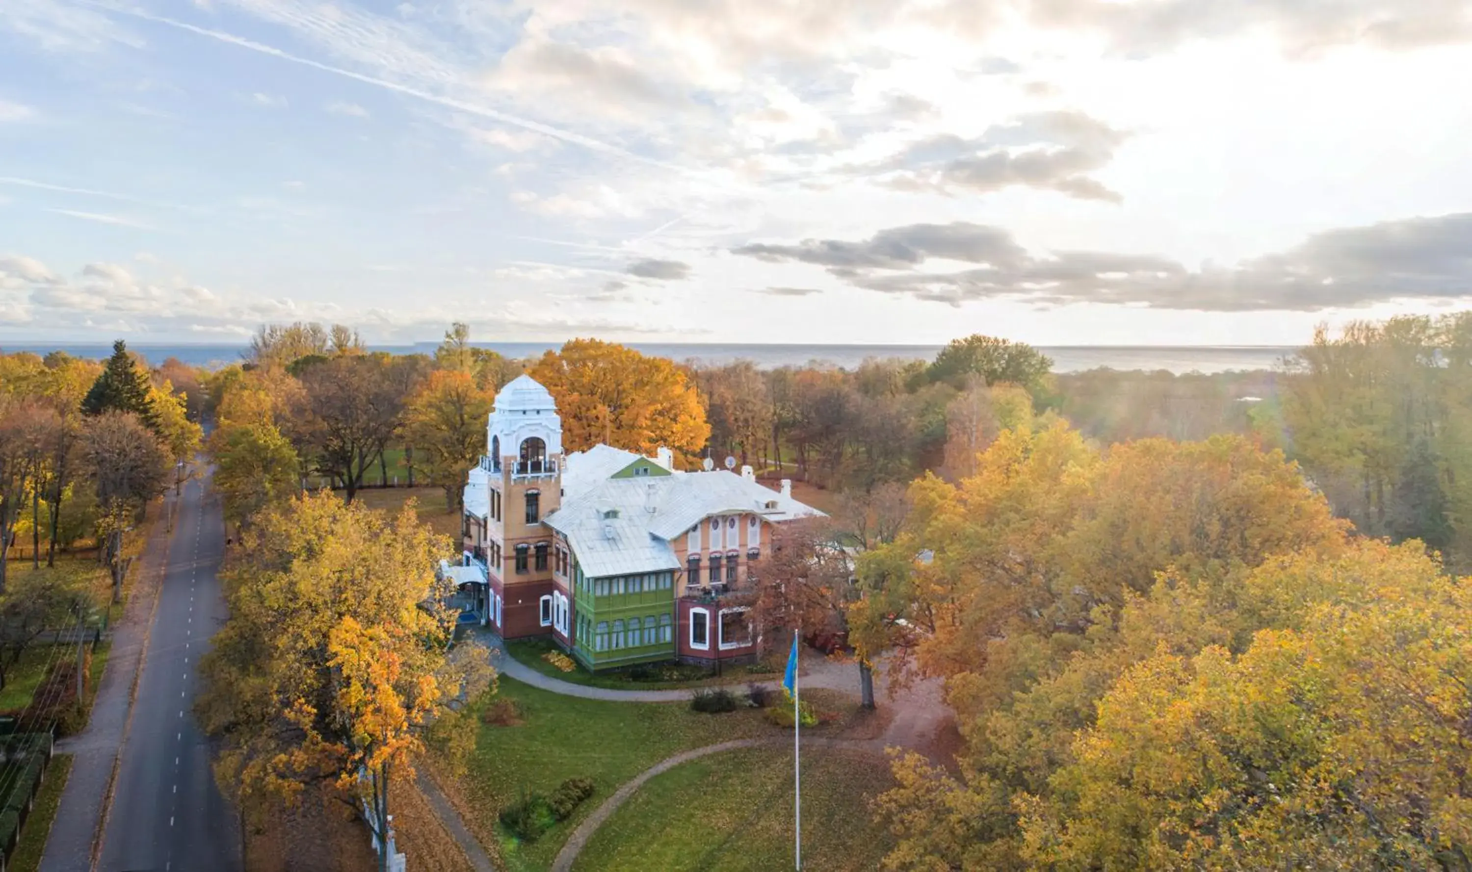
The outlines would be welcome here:
<svg viewBox="0 0 1472 872">
<path fill-rule="evenodd" d="M 552 394 L 527 375 L 496 394 L 465 484 L 464 566 L 483 623 L 551 635 L 587 669 L 751 660 L 743 594 L 774 525 L 821 515 L 749 466 L 682 472 L 609 446 L 564 454 Z"/>
</svg>

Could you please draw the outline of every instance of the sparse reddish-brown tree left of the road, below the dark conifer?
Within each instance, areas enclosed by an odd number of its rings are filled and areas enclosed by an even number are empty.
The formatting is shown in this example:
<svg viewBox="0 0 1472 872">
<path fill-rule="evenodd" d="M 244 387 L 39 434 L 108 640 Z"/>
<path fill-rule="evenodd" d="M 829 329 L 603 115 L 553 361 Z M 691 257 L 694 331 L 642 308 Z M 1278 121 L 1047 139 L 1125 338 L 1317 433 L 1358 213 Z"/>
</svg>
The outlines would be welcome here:
<svg viewBox="0 0 1472 872">
<path fill-rule="evenodd" d="M 82 454 L 102 509 L 103 562 L 112 572 L 113 601 L 119 601 L 128 571 L 122 556 L 124 534 L 147 501 L 168 488 L 169 456 L 153 431 L 131 412 L 96 416 L 87 426 Z"/>
</svg>

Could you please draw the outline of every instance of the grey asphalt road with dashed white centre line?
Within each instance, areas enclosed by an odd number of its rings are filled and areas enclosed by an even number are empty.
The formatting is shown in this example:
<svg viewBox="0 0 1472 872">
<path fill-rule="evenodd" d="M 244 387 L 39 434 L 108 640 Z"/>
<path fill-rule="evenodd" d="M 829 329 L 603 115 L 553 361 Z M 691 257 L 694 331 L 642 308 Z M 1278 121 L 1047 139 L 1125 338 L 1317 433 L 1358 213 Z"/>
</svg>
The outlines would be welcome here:
<svg viewBox="0 0 1472 872">
<path fill-rule="evenodd" d="M 184 485 L 169 560 L 122 747 L 102 872 L 236 872 L 240 835 L 194 725 L 199 657 L 225 619 L 215 572 L 225 551 L 219 497 Z"/>
</svg>

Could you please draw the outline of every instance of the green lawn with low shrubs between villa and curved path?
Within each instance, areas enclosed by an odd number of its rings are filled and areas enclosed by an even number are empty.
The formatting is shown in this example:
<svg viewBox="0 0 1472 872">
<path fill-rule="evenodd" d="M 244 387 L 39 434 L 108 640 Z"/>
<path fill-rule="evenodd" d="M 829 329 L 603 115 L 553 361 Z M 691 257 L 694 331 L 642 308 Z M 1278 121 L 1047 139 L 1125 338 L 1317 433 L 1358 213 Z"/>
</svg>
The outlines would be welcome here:
<svg viewBox="0 0 1472 872">
<path fill-rule="evenodd" d="M 524 723 L 480 725 L 462 794 L 484 844 L 499 844 L 511 872 L 545 871 L 568 832 L 621 784 L 687 748 L 730 738 L 779 735 L 761 712 L 699 715 L 682 703 L 608 703 L 546 693 L 502 678 L 499 697 L 515 700 Z M 530 844 L 503 832 L 496 816 L 523 790 L 551 793 L 567 778 L 592 778 L 596 793 Z"/>
</svg>

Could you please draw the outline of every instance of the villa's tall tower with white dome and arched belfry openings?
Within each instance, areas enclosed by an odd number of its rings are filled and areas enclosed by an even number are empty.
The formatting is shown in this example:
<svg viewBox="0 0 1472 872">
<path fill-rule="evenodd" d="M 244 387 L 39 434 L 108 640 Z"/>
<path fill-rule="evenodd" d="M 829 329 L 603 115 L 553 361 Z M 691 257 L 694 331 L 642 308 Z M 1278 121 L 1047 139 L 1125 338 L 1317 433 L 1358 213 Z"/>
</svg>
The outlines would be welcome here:
<svg viewBox="0 0 1472 872">
<path fill-rule="evenodd" d="M 511 379 L 496 394 L 486 444 L 490 618 L 506 638 L 545 634 L 553 534 L 542 519 L 562 496 L 562 419 L 552 394 L 531 376 Z"/>
</svg>

